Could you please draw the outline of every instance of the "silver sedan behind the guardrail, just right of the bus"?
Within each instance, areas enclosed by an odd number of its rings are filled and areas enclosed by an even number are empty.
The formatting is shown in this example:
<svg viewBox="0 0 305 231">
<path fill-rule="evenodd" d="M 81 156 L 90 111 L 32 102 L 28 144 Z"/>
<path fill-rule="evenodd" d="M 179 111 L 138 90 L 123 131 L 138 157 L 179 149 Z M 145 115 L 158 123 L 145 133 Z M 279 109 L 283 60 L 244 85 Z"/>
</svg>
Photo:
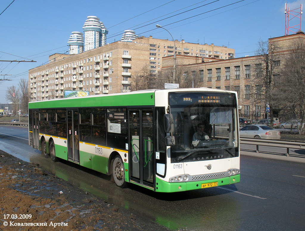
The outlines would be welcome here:
<svg viewBox="0 0 305 231">
<path fill-rule="evenodd" d="M 257 139 L 281 139 L 280 131 L 272 129 L 265 125 L 247 125 L 240 129 L 239 136 L 244 138 L 257 138 Z"/>
</svg>

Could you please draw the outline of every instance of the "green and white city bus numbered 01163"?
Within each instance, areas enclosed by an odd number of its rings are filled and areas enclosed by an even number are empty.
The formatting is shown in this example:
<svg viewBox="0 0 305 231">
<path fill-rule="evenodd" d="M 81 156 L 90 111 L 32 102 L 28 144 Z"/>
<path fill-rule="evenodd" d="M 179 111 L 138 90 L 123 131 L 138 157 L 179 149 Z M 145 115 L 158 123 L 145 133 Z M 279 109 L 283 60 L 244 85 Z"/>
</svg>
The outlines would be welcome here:
<svg viewBox="0 0 305 231">
<path fill-rule="evenodd" d="M 205 135 L 194 140 L 199 129 Z M 178 192 L 240 181 L 232 91 L 162 89 L 30 102 L 29 145 L 53 161 L 111 175 L 119 187 L 129 182 Z"/>
</svg>

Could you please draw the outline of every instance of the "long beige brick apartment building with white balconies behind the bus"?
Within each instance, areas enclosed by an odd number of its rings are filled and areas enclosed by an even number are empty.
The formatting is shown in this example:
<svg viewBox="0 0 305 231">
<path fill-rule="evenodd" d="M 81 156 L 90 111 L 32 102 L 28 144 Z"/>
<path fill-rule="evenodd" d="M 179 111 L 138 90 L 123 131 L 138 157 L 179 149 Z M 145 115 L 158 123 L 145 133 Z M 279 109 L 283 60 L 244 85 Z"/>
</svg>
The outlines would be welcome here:
<svg viewBox="0 0 305 231">
<path fill-rule="evenodd" d="M 117 41 L 80 54 L 53 54 L 29 70 L 30 101 L 59 99 L 65 90 L 89 94 L 130 91 L 132 72 L 149 62 L 149 44 Z"/>
</svg>

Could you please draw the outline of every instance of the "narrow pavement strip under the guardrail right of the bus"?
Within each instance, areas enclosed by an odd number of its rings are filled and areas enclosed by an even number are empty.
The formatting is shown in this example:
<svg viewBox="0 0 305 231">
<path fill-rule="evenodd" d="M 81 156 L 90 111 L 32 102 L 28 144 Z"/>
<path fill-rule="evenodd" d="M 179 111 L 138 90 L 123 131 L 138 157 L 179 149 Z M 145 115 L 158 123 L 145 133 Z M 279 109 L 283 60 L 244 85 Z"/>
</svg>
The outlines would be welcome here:
<svg viewBox="0 0 305 231">
<path fill-rule="evenodd" d="M 296 153 L 290 153 L 289 156 L 286 156 L 286 154 L 283 153 L 274 153 L 274 152 L 265 152 L 265 151 L 260 151 L 259 153 L 257 153 L 256 150 L 249 151 L 245 149 L 240 149 L 240 154 L 245 156 L 255 156 L 260 158 L 278 159 L 278 160 L 305 163 L 305 155 L 296 154 Z"/>
</svg>

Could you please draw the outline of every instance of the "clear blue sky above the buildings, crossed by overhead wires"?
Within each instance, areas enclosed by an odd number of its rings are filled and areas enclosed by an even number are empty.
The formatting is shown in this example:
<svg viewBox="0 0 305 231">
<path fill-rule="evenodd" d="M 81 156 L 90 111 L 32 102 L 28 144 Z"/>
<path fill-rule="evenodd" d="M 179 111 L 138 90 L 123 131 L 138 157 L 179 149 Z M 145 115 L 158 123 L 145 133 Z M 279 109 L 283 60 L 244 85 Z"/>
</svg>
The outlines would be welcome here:
<svg viewBox="0 0 305 231">
<path fill-rule="evenodd" d="M 11 80 L 0 81 L 0 102 L 6 103 L 5 92 L 9 86 L 18 86 L 20 79 L 28 79 L 29 69 L 46 64 L 51 54 L 66 52 L 71 32 L 82 32 L 87 16 L 97 16 L 104 23 L 109 30 L 107 43 L 120 40 L 127 29 L 145 37 L 170 39 L 167 31 L 156 28 L 155 25 L 160 24 L 177 40 L 234 48 L 236 58 L 255 55 L 259 40 L 285 35 L 286 1 L 239 1 L 2 0 L 0 13 L 13 3 L 0 15 L 0 60 L 37 62 L 0 62 L 0 79 L 5 75 L 5 79 Z M 304 2 L 287 1 L 287 5 L 292 10 Z M 190 11 L 185 12 L 187 10 Z M 173 16 L 175 14 L 179 15 Z M 170 18 L 165 19 L 167 17 Z M 182 19 L 186 20 L 180 21 Z M 299 21 L 291 21 L 292 24 L 299 24 Z"/>
</svg>

